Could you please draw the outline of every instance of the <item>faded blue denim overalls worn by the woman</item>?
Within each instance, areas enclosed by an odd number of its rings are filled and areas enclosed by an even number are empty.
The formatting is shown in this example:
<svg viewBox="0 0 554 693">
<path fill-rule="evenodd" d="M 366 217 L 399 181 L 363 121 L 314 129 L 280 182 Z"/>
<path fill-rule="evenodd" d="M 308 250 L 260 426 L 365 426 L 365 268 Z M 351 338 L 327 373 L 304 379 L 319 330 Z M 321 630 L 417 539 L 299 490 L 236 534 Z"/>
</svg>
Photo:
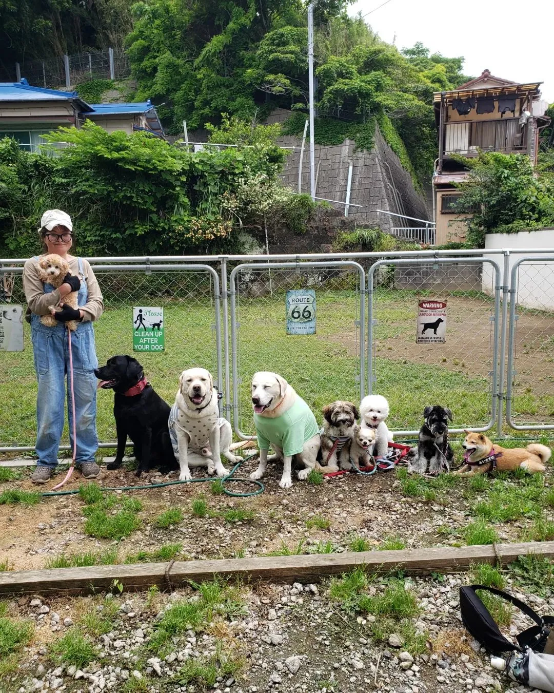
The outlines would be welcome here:
<svg viewBox="0 0 554 693">
<path fill-rule="evenodd" d="M 35 257 L 35 260 L 38 260 Z M 78 306 L 87 303 L 89 292 L 84 279 L 82 260 L 79 262 L 81 287 L 78 292 Z M 44 284 L 44 292 L 50 293 L 53 287 Z M 69 375 L 68 329 L 58 322 L 55 327 L 46 327 L 39 315 L 31 315 L 30 335 L 33 342 L 33 358 L 37 371 L 37 465 L 54 467 L 57 464 L 57 451 L 64 429 L 65 383 L 67 376 L 67 416 L 69 437 L 73 450 L 73 412 L 71 407 L 71 387 Z M 94 331 L 92 322 L 80 322 L 75 332 L 71 332 L 71 355 L 73 357 L 73 389 L 75 392 L 75 417 L 77 431 L 77 456 L 75 464 L 93 462 L 98 450 L 96 435 L 96 386 L 98 380 L 93 370 L 98 368 Z"/>
</svg>

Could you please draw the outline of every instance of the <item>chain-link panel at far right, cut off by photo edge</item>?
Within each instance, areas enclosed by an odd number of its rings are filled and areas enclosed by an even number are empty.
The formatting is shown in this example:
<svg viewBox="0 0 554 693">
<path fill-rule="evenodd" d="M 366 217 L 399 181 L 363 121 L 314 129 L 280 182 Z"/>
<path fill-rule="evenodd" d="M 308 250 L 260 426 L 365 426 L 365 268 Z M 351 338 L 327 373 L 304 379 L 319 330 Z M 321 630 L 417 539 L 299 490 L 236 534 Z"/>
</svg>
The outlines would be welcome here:
<svg viewBox="0 0 554 693">
<path fill-rule="evenodd" d="M 512 266 L 506 420 L 519 430 L 554 428 L 554 256 Z"/>
</svg>

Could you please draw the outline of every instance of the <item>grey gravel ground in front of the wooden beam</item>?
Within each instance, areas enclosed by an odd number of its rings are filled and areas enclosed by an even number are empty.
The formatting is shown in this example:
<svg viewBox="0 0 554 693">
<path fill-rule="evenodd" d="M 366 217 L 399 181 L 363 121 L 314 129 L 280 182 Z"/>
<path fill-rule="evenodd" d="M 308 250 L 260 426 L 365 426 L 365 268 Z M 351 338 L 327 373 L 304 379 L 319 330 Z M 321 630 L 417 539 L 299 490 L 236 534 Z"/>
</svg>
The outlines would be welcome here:
<svg viewBox="0 0 554 693">
<path fill-rule="evenodd" d="M 402 578 L 401 578 L 402 579 Z M 329 584 L 258 584 L 235 587 L 240 614 L 214 616 L 210 622 L 170 638 L 165 649 L 151 651 L 150 640 L 164 613 L 183 600 L 194 601 L 190 590 L 163 595 L 96 595 L 94 597 L 20 597 L 8 602 L 8 615 L 29 619 L 35 635 L 20 653 L 19 668 L 3 676 L 0 690 L 57 690 L 100 693 L 104 690 L 196 693 L 256 693 L 262 691 L 329 693 L 377 691 L 391 693 L 483 693 L 529 690 L 491 669 L 479 643 L 463 629 L 458 609 L 458 586 L 465 575 L 440 579 L 404 579 L 404 589 L 415 597 L 418 613 L 413 631 L 422 635 L 425 652 L 413 656 L 402 635 L 392 633 L 378 642 L 371 631 L 370 614 L 349 613 L 329 594 Z M 510 582 L 510 579 L 508 579 Z M 379 595 L 385 581 L 368 587 Z M 553 613 L 554 597 L 521 593 L 539 613 Z M 116 590 L 117 591 L 117 590 Z M 60 663 L 52 655 L 55 641 L 82 624 L 86 613 L 115 604 L 108 632 L 85 635 L 94 649 L 93 661 L 81 667 Z M 113 608 L 113 607 L 112 607 Z M 515 614 L 505 632 L 514 635 L 526 623 Z M 218 649 L 219 648 L 219 649 Z M 242 658 L 233 674 L 215 682 L 182 683 L 187 663 L 202 661 L 221 648 Z M 221 657 L 221 655 L 218 655 Z M 219 672 L 218 672 L 219 673 Z"/>
</svg>

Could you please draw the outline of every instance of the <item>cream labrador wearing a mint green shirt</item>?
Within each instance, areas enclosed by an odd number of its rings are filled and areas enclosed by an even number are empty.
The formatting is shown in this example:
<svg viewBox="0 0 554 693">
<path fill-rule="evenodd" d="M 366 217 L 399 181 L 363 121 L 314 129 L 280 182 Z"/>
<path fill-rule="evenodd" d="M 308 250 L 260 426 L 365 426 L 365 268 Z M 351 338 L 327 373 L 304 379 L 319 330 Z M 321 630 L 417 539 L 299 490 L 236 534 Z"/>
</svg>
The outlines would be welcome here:
<svg viewBox="0 0 554 693">
<path fill-rule="evenodd" d="M 321 444 L 319 427 L 312 410 L 296 394 L 285 378 L 269 371 L 255 373 L 251 385 L 254 424 L 260 447 L 260 464 L 251 473 L 253 480 L 261 479 L 268 460 L 283 460 L 283 476 L 279 482 L 282 489 L 292 486 L 292 459 L 301 462 L 304 468 L 298 479 L 304 480 L 315 468 L 316 456 Z M 271 448 L 276 455 L 268 457 Z"/>
</svg>

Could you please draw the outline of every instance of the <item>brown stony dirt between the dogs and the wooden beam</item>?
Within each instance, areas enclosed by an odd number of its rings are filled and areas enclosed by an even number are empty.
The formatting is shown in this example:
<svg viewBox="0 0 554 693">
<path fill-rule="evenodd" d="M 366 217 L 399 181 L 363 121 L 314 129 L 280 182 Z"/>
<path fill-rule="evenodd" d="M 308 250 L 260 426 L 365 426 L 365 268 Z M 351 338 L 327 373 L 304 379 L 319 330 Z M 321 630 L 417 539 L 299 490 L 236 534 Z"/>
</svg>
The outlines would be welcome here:
<svg viewBox="0 0 554 693">
<path fill-rule="evenodd" d="M 245 462 L 240 475 L 247 476 L 255 467 L 256 461 Z M 264 555 L 283 547 L 302 553 L 341 552 L 350 550 L 354 536 L 364 538 L 369 548 L 378 548 L 391 536 L 399 536 L 406 547 L 459 544 L 463 543 L 467 514 L 486 495 L 485 491 L 471 491 L 466 480 L 458 480 L 456 486 L 437 491 L 426 501 L 403 495 L 394 472 L 363 478 L 350 474 L 326 479 L 319 486 L 295 481 L 292 489 L 283 491 L 278 486 L 280 471 L 270 466 L 268 472 L 264 493 L 250 498 L 212 495 L 210 483 L 126 491 L 123 495 L 141 501 L 141 527 L 118 543 L 119 561 L 139 550 L 153 552 L 166 543 L 181 545 L 181 560 Z M 175 475 L 170 478 L 175 479 Z M 548 471 L 546 482 L 551 483 L 551 479 Z M 64 488 L 78 489 L 81 481 L 75 473 Z M 144 484 L 145 479 L 138 480 L 125 469 L 102 469 L 100 483 L 133 486 Z M 235 491 L 252 489 L 249 484 L 232 485 Z M 4 484 L 4 488 L 36 489 L 27 476 Z M 193 514 L 191 504 L 199 497 L 204 498 L 211 516 Z M 0 561 L 12 569 L 30 570 L 44 567 L 48 559 L 61 553 L 104 552 L 113 546 L 114 541 L 84 533 L 83 507 L 79 495 L 44 498 L 33 507 L 0 505 Z M 170 507 L 179 507 L 184 520 L 162 529 L 155 520 Z M 253 516 L 229 523 L 223 518 L 229 509 L 252 511 Z M 517 540 L 530 522 L 523 519 L 498 526 L 499 538 Z"/>
</svg>

